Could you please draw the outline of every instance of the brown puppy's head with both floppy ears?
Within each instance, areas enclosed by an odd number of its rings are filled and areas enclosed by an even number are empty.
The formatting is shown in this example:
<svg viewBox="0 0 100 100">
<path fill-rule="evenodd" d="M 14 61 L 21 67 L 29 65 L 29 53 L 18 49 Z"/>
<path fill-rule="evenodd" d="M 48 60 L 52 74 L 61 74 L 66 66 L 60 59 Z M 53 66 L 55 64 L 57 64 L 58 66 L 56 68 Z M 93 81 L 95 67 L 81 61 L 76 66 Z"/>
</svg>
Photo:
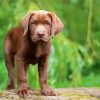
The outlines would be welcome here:
<svg viewBox="0 0 100 100">
<path fill-rule="evenodd" d="M 55 14 L 38 10 L 28 12 L 21 19 L 20 27 L 23 30 L 23 36 L 30 34 L 33 42 L 39 40 L 47 42 L 51 36 L 62 30 L 63 24 Z"/>
</svg>

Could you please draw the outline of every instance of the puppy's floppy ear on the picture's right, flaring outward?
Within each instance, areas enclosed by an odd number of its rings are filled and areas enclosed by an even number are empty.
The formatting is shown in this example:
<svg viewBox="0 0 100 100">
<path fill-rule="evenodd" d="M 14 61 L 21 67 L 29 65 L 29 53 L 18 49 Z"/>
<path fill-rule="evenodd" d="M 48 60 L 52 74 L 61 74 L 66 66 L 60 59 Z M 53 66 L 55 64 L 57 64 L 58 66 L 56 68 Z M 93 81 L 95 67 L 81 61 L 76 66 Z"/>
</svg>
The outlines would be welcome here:
<svg viewBox="0 0 100 100">
<path fill-rule="evenodd" d="M 49 13 L 51 20 L 52 20 L 52 29 L 51 29 L 51 35 L 52 37 L 54 35 L 56 35 L 57 33 L 59 33 L 64 25 L 63 23 L 60 21 L 60 19 L 56 16 L 56 14 L 54 13 Z"/>
</svg>

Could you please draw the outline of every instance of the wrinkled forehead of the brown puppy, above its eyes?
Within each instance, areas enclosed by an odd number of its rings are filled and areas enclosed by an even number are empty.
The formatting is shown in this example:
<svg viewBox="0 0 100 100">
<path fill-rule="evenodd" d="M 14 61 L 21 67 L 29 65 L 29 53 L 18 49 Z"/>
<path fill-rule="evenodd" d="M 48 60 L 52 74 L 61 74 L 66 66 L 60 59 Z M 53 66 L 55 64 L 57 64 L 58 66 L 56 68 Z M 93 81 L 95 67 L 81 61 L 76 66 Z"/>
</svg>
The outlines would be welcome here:
<svg viewBox="0 0 100 100">
<path fill-rule="evenodd" d="M 32 14 L 30 20 L 31 21 L 33 21 L 33 20 L 37 20 L 37 21 L 47 20 L 47 21 L 50 21 L 51 22 L 51 17 L 49 16 L 49 14 L 48 14 L 47 11 L 35 11 Z"/>
</svg>

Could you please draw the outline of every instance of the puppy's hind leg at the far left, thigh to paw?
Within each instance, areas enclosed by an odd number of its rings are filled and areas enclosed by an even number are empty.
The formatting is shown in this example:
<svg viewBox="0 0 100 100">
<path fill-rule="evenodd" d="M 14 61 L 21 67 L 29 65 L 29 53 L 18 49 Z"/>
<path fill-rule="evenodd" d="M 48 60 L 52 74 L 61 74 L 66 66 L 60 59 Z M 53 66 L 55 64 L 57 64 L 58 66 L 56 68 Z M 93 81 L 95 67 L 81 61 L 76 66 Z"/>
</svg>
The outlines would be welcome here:
<svg viewBox="0 0 100 100">
<path fill-rule="evenodd" d="M 12 53 L 11 42 L 9 38 L 5 41 L 5 64 L 8 71 L 8 85 L 7 89 L 14 89 L 14 74 L 13 74 L 13 67 L 14 67 L 14 54 Z"/>
</svg>

